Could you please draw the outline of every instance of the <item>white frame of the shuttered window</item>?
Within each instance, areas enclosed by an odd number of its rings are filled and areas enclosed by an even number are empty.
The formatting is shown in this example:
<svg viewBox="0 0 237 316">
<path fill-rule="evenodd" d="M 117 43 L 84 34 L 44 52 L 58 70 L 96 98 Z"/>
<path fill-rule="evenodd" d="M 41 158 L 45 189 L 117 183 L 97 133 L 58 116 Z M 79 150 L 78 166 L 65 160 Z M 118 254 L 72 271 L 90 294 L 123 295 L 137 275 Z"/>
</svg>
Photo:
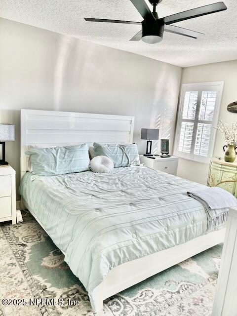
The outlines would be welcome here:
<svg viewBox="0 0 237 316">
<path fill-rule="evenodd" d="M 212 157 L 213 151 L 214 151 L 214 145 L 215 145 L 215 139 L 216 139 L 216 128 L 214 128 L 214 127 L 217 127 L 217 123 L 218 123 L 223 87 L 224 87 L 224 81 L 199 82 L 199 83 L 183 83 L 182 84 L 181 94 L 180 94 L 180 101 L 179 101 L 179 107 L 178 107 L 178 115 L 177 115 L 177 120 L 176 120 L 176 135 L 175 135 L 175 142 L 174 142 L 174 155 L 175 156 L 180 157 L 180 158 L 185 158 L 185 159 L 188 159 L 188 160 L 193 160 L 193 161 L 198 161 L 198 162 L 203 162 L 203 163 L 209 163 L 209 160 Z M 202 94 L 203 90 L 206 90 L 206 91 L 215 90 L 215 91 L 217 91 L 215 110 L 214 110 L 212 126 L 211 126 L 210 145 L 209 145 L 209 150 L 208 150 L 208 156 L 207 157 L 203 157 L 203 156 L 199 156 L 199 155 L 195 155 L 194 154 L 195 142 L 192 143 L 191 153 L 190 154 L 178 151 L 179 138 L 180 138 L 180 132 L 181 132 L 181 124 L 182 124 L 182 121 L 183 121 L 182 114 L 183 114 L 185 93 L 187 91 L 198 91 L 197 109 L 196 109 L 195 119 L 190 119 L 190 122 L 194 122 L 194 124 L 196 122 L 195 125 L 197 127 L 199 110 L 200 110 L 200 102 L 201 102 L 201 94 Z M 189 121 L 189 119 L 185 119 L 185 121 L 187 122 L 187 121 Z M 203 123 L 210 123 L 210 121 L 205 121 L 205 120 L 203 120 L 202 122 Z M 197 128 L 194 128 L 193 133 L 194 133 L 193 134 L 194 135 L 193 139 L 195 140 L 196 139 Z"/>
</svg>

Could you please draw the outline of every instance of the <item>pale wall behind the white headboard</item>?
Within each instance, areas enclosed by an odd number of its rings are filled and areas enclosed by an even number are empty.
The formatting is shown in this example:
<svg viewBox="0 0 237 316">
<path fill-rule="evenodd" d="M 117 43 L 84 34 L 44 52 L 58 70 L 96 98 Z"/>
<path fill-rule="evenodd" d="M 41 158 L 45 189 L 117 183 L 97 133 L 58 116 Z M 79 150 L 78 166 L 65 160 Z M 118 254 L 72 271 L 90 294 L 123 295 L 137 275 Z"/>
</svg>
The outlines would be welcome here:
<svg viewBox="0 0 237 316">
<path fill-rule="evenodd" d="M 134 115 L 174 134 L 182 69 L 133 53 L 0 19 L 0 123 L 16 125 L 6 159 L 20 174 L 20 109 Z"/>
</svg>

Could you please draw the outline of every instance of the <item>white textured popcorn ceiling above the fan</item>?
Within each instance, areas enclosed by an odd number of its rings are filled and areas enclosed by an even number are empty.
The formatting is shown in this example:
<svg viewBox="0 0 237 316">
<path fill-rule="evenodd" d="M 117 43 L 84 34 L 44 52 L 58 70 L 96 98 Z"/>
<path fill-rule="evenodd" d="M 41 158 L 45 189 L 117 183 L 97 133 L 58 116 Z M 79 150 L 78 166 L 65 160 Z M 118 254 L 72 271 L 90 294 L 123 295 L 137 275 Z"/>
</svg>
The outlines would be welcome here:
<svg viewBox="0 0 237 316">
<path fill-rule="evenodd" d="M 46 30 L 130 51 L 181 67 L 237 59 L 237 0 L 228 9 L 175 25 L 205 33 L 199 39 L 164 33 L 163 41 L 129 41 L 139 25 L 86 22 L 83 17 L 142 21 L 130 0 L 1 0 L 0 16 Z M 148 1 L 147 1 L 148 2 Z M 218 0 L 163 0 L 159 17 Z M 151 7 L 150 3 L 148 2 Z"/>
</svg>

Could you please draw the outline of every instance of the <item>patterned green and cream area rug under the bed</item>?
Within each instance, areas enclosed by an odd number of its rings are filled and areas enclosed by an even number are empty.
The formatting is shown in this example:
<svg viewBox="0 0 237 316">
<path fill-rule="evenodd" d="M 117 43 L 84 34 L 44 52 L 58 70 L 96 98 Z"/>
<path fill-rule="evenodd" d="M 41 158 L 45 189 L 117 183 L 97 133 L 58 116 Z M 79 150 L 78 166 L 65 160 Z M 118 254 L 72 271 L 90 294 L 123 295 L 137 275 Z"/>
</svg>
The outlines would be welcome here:
<svg viewBox="0 0 237 316">
<path fill-rule="evenodd" d="M 211 315 L 221 252 L 222 244 L 111 297 L 105 315 Z M 0 294 L 0 316 L 94 315 L 83 285 L 31 216 L 0 225 Z"/>
</svg>

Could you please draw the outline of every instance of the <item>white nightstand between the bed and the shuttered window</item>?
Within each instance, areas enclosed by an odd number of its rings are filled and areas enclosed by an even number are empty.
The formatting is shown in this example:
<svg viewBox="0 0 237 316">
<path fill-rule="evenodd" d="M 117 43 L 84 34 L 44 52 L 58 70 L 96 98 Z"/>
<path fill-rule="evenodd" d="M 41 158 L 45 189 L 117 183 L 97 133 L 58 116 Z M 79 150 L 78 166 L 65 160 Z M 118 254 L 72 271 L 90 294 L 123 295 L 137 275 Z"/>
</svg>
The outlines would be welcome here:
<svg viewBox="0 0 237 316">
<path fill-rule="evenodd" d="M 177 174 L 177 167 L 178 167 L 178 161 L 179 158 L 175 156 L 171 156 L 168 158 L 160 158 L 160 157 L 155 157 L 155 159 L 151 159 L 148 157 L 145 157 L 143 155 L 140 155 L 140 162 L 144 163 L 145 166 L 160 170 L 166 173 L 170 173 L 176 176 Z"/>
</svg>

